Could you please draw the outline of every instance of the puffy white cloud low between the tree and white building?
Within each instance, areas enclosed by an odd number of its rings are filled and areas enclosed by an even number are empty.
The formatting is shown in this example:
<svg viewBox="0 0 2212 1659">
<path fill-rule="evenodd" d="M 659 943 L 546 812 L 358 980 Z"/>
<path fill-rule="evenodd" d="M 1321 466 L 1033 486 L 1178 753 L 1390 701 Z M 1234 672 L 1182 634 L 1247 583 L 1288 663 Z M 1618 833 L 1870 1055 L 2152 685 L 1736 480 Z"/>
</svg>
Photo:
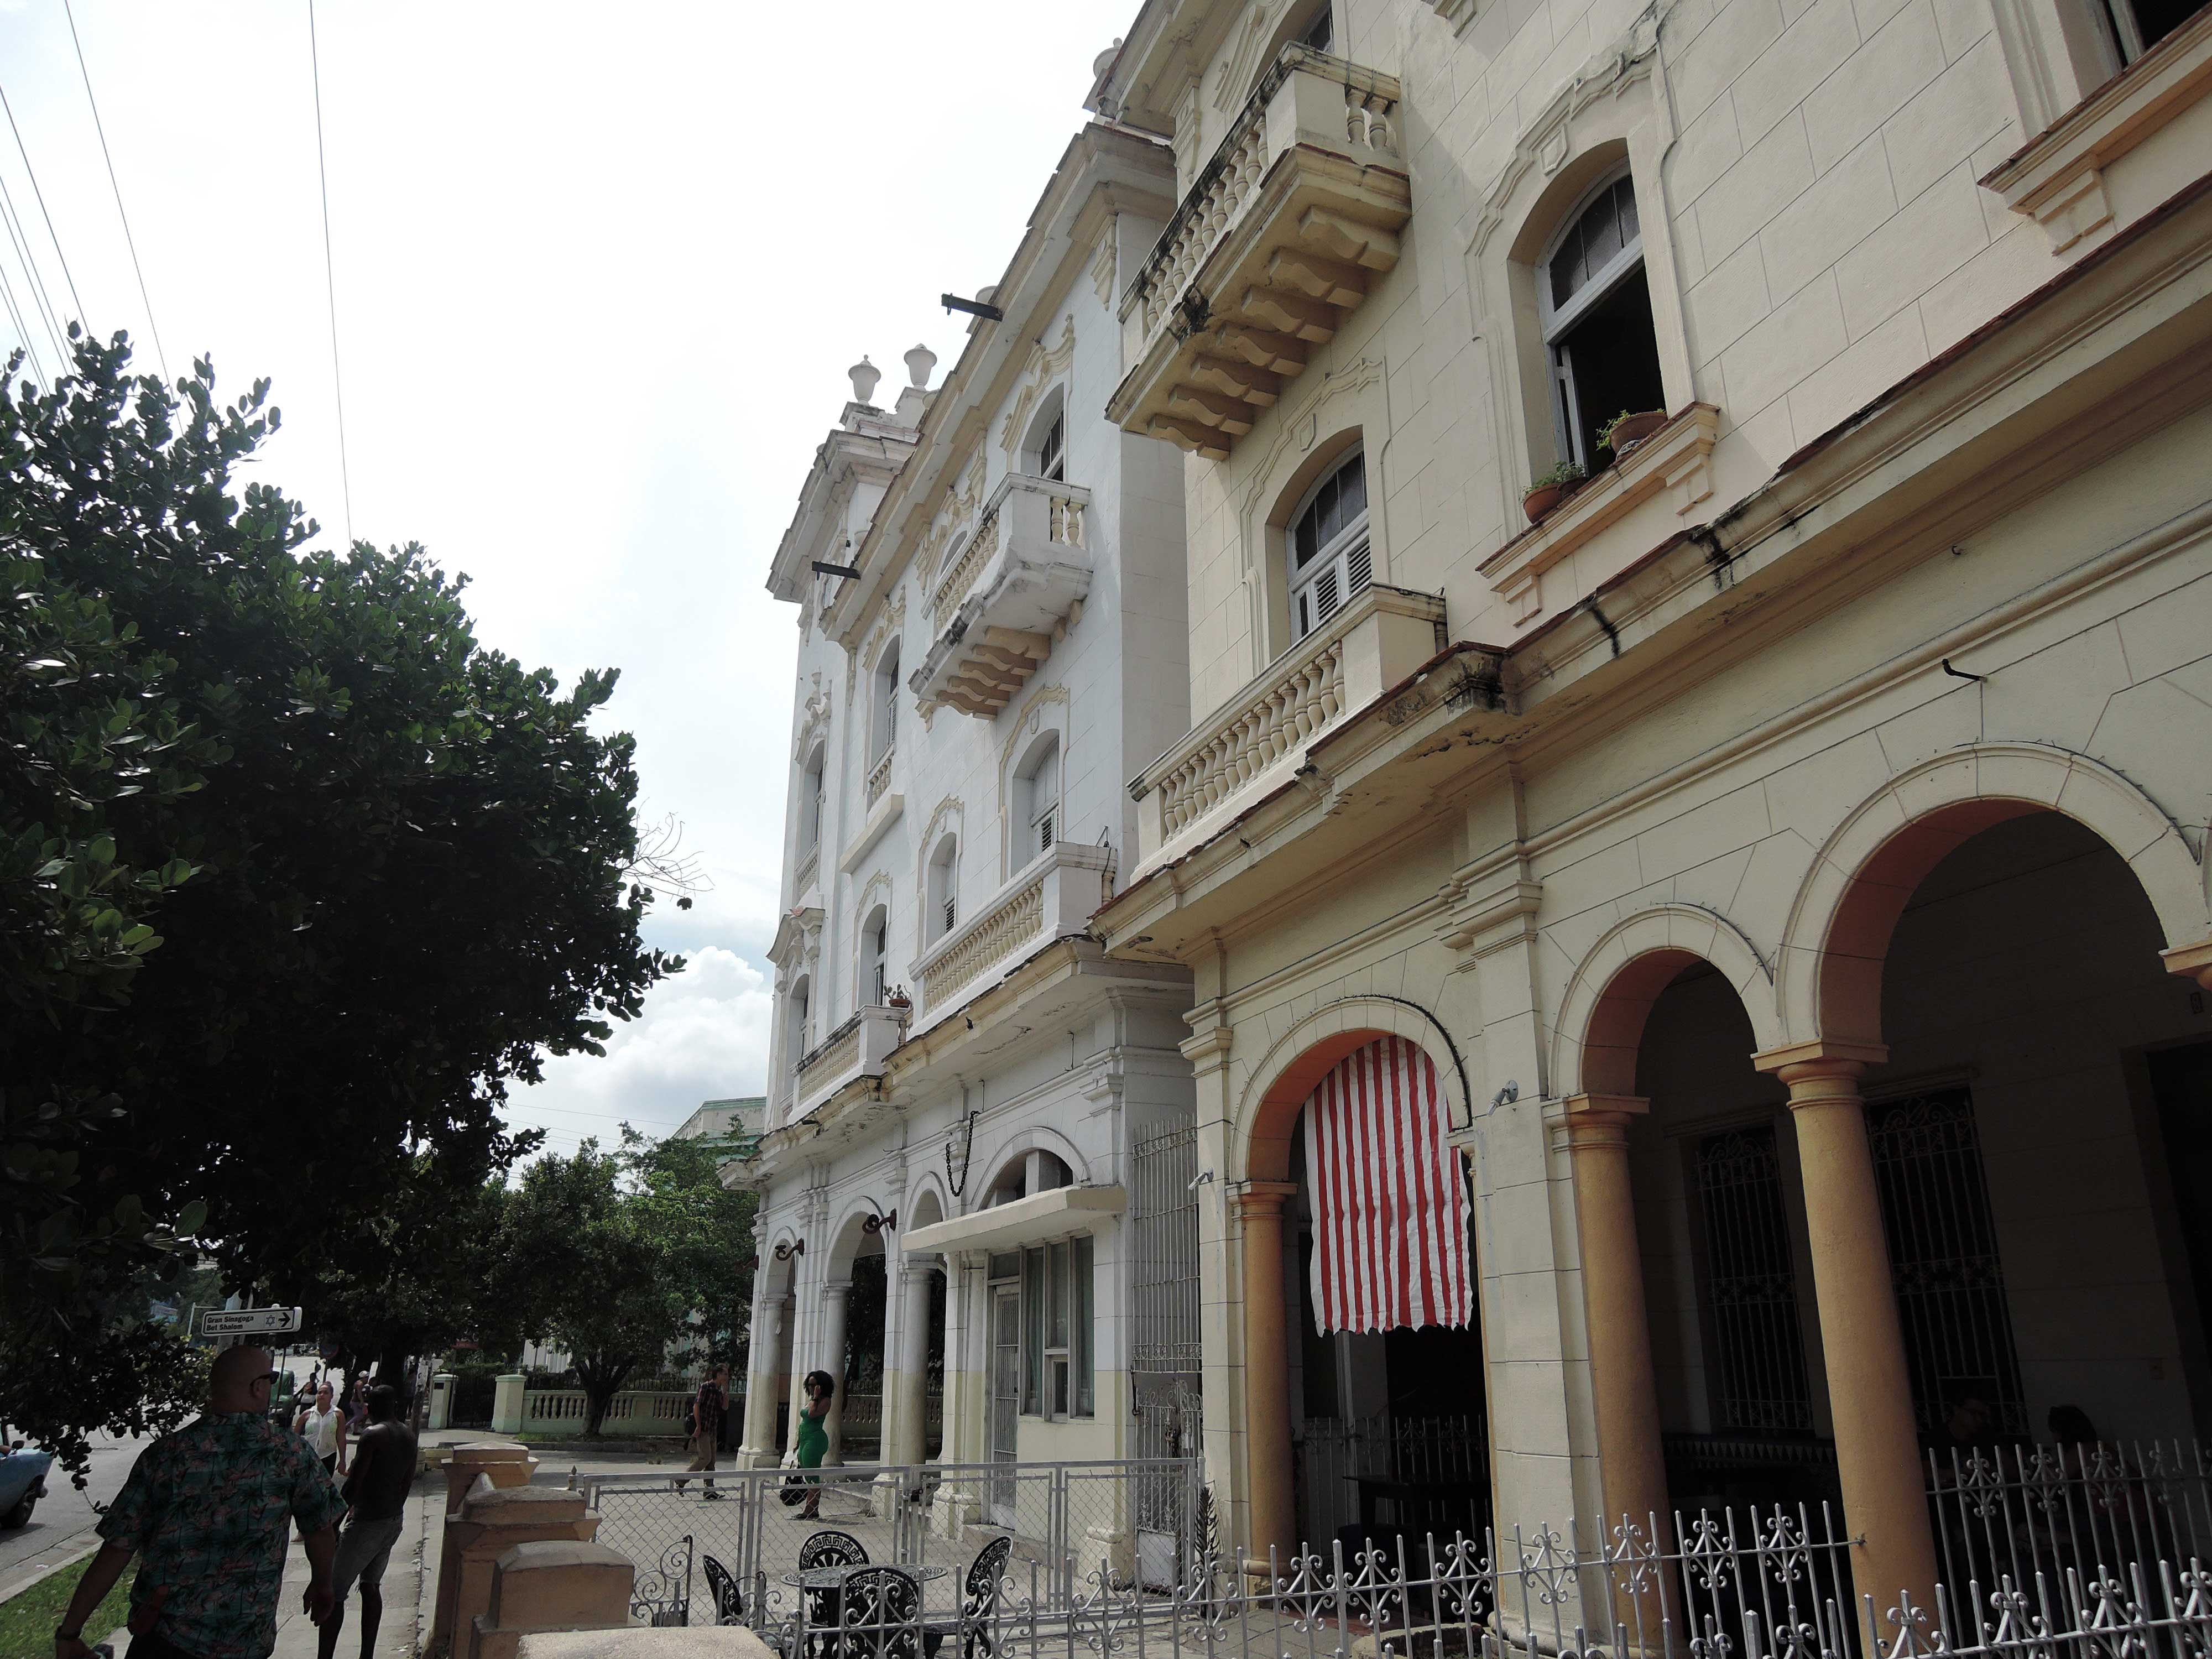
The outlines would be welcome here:
<svg viewBox="0 0 2212 1659">
<path fill-rule="evenodd" d="M 710 945 L 646 993 L 644 1013 L 615 1026 L 606 1057 L 546 1062 L 546 1079 L 509 1099 L 509 1121 L 542 1126 L 553 1146 L 584 1135 L 611 1144 L 626 1117 L 648 1135 L 681 1124 L 703 1099 L 759 1095 L 768 1077 L 768 975 Z"/>
</svg>

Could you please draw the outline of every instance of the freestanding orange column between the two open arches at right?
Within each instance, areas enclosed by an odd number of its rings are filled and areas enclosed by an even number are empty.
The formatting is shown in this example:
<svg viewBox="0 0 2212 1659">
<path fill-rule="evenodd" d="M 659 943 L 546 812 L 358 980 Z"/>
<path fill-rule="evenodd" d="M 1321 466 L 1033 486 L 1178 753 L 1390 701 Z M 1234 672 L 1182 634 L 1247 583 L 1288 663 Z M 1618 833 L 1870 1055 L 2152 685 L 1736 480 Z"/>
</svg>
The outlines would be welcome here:
<svg viewBox="0 0 2212 1659">
<path fill-rule="evenodd" d="M 1827 1402 L 1836 1420 L 1843 1520 L 1854 1537 L 1851 1582 L 1874 1597 L 1880 1639 L 1898 1595 L 1936 1608 L 1936 1540 L 1920 1475 L 1905 1329 L 1889 1276 L 1882 1201 L 1874 1186 L 1858 1075 L 1889 1051 L 1876 1042 L 1798 1042 L 1752 1055 L 1790 1086 L 1805 1230 L 1820 1301 Z"/>
</svg>

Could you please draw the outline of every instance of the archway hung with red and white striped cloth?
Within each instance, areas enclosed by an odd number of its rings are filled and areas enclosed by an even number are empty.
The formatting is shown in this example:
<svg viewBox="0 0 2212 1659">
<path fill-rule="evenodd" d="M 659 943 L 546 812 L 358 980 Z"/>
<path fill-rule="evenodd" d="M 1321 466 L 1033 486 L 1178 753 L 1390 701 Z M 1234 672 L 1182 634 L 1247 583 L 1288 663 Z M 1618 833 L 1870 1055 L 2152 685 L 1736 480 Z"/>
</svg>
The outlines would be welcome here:
<svg viewBox="0 0 2212 1659">
<path fill-rule="evenodd" d="M 1307 1037 L 1243 1137 L 1250 1544 L 1480 1537 L 1489 1425 L 1473 1203 L 1449 1141 L 1458 1062 L 1447 1053 L 1447 1086 L 1418 1037 Z"/>
</svg>

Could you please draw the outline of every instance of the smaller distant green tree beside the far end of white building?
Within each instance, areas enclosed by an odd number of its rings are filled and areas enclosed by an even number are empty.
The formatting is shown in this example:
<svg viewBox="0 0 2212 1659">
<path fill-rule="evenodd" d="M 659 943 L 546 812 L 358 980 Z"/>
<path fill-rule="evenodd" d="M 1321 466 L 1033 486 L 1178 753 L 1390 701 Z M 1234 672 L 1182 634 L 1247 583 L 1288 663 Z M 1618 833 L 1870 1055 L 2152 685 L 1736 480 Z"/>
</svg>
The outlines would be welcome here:
<svg viewBox="0 0 2212 1659">
<path fill-rule="evenodd" d="M 568 1352 L 588 1436 L 675 1345 L 743 1367 L 754 1197 L 726 1190 L 714 1164 L 697 1141 L 624 1128 L 615 1152 L 584 1141 L 538 1159 L 509 1197 L 487 1301 L 509 1312 L 507 1340 Z"/>
</svg>

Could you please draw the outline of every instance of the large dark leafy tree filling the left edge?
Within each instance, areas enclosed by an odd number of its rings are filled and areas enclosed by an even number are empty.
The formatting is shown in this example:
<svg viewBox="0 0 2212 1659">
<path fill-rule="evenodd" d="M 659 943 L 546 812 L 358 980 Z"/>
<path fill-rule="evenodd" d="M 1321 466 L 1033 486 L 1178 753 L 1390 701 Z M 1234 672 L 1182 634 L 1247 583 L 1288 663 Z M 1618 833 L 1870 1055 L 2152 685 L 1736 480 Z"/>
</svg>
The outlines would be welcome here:
<svg viewBox="0 0 2212 1659">
<path fill-rule="evenodd" d="M 192 1400 L 199 1241 L 303 1296 L 533 1141 L 500 1106 L 679 962 L 613 672 L 478 644 L 418 546 L 310 551 L 268 383 L 0 392 L 0 1418 L 82 1462 Z M 427 1164 L 425 1164 L 427 1159 Z"/>
</svg>

